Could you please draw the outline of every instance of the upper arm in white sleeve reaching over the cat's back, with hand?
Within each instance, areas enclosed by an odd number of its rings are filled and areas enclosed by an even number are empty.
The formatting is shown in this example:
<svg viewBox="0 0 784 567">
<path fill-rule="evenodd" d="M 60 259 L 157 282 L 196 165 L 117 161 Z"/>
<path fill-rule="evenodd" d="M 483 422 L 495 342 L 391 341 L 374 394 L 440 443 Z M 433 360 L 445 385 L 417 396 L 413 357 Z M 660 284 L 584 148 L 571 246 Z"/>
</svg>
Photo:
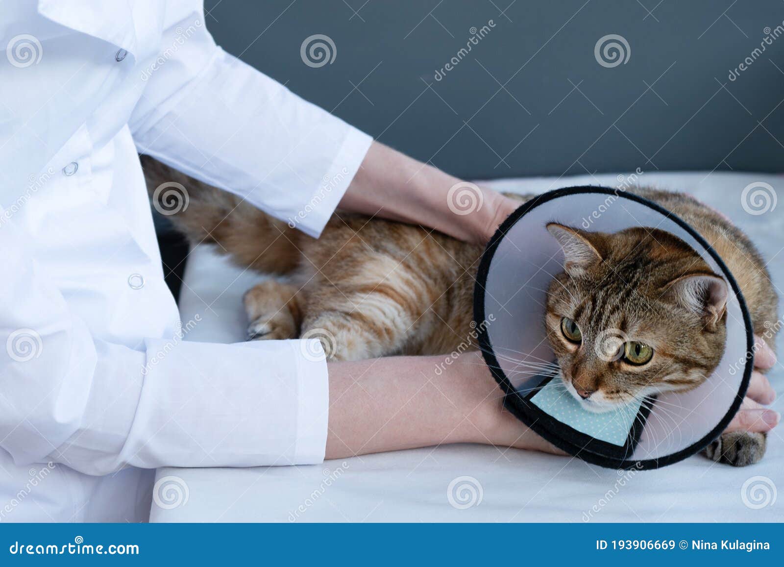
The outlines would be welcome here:
<svg viewBox="0 0 784 567">
<path fill-rule="evenodd" d="M 167 13 L 162 45 L 183 29 L 192 34 L 147 74 L 129 122 L 141 153 L 296 219 L 311 236 L 339 204 L 485 243 L 519 204 L 474 184 L 456 187 L 456 177 L 372 142 L 224 53 L 198 3 Z"/>
</svg>

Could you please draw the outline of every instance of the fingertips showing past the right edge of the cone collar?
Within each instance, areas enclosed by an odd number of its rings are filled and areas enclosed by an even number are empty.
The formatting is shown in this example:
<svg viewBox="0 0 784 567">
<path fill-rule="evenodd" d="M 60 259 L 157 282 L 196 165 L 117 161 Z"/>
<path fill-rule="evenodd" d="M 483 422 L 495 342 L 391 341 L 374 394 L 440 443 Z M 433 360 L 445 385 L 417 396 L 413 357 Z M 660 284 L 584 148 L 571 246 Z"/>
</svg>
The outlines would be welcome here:
<svg viewBox="0 0 784 567">
<path fill-rule="evenodd" d="M 746 398 L 735 414 L 726 431 L 753 431 L 764 433 L 779 424 L 778 412 L 764 407 L 771 404 L 776 393 L 768 377 L 759 370 L 771 369 L 776 363 L 776 355 L 759 336 L 754 336 L 754 371 L 751 374 Z"/>
</svg>

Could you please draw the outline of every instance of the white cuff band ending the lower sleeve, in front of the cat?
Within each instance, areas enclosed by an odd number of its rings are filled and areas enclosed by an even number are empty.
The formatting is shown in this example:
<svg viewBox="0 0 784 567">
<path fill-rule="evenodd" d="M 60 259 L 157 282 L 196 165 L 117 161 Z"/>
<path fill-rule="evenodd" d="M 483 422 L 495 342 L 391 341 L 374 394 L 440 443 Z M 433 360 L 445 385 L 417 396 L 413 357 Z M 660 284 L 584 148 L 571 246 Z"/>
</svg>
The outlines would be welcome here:
<svg viewBox="0 0 784 567">
<path fill-rule="evenodd" d="M 318 464 L 324 460 L 329 417 L 329 376 L 321 341 L 289 341 L 296 360 L 299 394 L 294 462 Z"/>
</svg>

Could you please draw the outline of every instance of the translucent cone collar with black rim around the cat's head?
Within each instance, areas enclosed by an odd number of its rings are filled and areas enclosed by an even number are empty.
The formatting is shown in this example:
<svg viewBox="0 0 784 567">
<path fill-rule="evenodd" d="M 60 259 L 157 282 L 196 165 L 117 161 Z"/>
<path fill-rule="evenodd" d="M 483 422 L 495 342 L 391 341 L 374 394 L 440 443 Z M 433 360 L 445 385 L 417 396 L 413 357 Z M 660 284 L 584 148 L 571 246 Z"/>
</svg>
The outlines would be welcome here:
<svg viewBox="0 0 784 567">
<path fill-rule="evenodd" d="M 627 411 L 628 419 L 613 419 L 612 413 L 575 411 L 569 405 L 578 405 L 575 400 L 556 396 L 554 383 L 547 387 L 559 377 L 549 380 L 530 370 L 521 372 L 525 362 L 555 361 L 546 340 L 544 304 L 552 276 L 563 271 L 564 255 L 546 229 L 550 222 L 603 232 L 656 227 L 681 238 L 702 256 L 729 284 L 727 340 L 713 374 L 694 390 L 659 394 L 652 403 Z M 608 187 L 550 191 L 512 213 L 481 258 L 474 320 L 485 362 L 506 394 L 506 408 L 559 449 L 603 467 L 652 469 L 698 453 L 735 416 L 753 369 L 751 318 L 735 278 L 718 254 L 670 211 Z"/>
</svg>

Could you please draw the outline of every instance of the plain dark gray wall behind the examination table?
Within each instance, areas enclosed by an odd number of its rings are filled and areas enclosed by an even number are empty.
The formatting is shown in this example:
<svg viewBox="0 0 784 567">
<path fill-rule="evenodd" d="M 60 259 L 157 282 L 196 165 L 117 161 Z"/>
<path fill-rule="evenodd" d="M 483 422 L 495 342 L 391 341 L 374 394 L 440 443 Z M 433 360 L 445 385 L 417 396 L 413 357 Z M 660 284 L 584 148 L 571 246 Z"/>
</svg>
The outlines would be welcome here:
<svg viewBox="0 0 784 567">
<path fill-rule="evenodd" d="M 205 9 L 223 49 L 458 176 L 784 171 L 784 35 L 752 53 L 782 31 L 782 0 L 209 0 Z M 436 80 L 488 20 L 495 27 Z M 314 34 L 336 45 L 332 64 L 303 63 L 300 46 Z M 594 46 L 609 34 L 630 45 L 625 64 L 597 63 Z"/>
</svg>

